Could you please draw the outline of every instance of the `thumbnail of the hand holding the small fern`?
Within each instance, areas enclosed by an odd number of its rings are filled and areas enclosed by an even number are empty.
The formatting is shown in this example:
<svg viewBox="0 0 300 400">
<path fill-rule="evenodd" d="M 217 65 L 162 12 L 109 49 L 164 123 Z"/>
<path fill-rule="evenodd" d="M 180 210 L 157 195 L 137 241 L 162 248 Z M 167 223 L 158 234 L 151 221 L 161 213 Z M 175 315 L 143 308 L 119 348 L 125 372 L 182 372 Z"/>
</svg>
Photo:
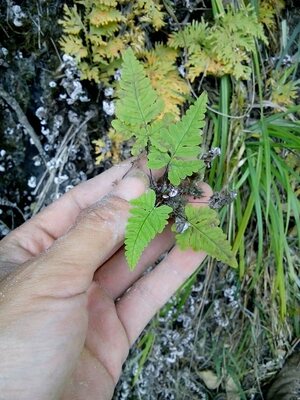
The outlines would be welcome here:
<svg viewBox="0 0 300 400">
<path fill-rule="evenodd" d="M 141 170 L 133 170 L 119 182 L 113 194 L 129 201 L 139 197 L 148 187 L 148 176 Z"/>
</svg>

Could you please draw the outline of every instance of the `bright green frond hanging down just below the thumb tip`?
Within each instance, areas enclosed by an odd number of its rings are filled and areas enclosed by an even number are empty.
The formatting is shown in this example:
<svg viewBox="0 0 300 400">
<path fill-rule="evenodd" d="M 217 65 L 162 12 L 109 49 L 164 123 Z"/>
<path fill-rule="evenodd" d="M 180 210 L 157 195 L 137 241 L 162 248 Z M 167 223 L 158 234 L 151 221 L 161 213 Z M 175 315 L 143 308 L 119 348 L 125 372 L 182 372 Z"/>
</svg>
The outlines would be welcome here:
<svg viewBox="0 0 300 400">
<path fill-rule="evenodd" d="M 158 233 L 161 233 L 168 223 L 172 208 L 166 205 L 156 207 L 156 195 L 150 189 L 142 196 L 131 200 L 133 206 L 130 210 L 125 233 L 125 256 L 129 268 L 133 270 L 138 260 Z"/>
</svg>

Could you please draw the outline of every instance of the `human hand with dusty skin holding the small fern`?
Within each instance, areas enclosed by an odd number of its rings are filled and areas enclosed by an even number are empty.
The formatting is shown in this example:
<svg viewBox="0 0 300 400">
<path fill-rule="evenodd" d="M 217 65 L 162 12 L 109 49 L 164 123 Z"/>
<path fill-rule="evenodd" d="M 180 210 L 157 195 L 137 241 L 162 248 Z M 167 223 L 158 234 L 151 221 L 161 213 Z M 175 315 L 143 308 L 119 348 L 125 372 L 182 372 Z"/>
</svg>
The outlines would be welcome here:
<svg viewBox="0 0 300 400">
<path fill-rule="evenodd" d="M 137 167 L 122 179 L 130 167 L 82 183 L 1 241 L 1 400 L 110 399 L 130 346 L 204 259 L 172 248 L 166 228 L 128 270 L 128 200 L 148 185 Z"/>
</svg>

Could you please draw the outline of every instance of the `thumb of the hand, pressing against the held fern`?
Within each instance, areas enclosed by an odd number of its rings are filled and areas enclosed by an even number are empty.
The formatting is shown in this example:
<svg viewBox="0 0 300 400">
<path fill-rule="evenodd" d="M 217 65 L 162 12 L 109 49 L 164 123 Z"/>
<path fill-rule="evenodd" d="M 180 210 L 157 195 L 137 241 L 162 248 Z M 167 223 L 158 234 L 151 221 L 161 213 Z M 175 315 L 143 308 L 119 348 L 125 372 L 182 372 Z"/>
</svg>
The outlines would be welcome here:
<svg viewBox="0 0 300 400">
<path fill-rule="evenodd" d="M 122 246 L 129 200 L 148 187 L 137 170 L 120 181 L 108 196 L 83 210 L 74 227 L 30 264 L 42 295 L 72 296 L 85 292 L 95 271 Z"/>
</svg>

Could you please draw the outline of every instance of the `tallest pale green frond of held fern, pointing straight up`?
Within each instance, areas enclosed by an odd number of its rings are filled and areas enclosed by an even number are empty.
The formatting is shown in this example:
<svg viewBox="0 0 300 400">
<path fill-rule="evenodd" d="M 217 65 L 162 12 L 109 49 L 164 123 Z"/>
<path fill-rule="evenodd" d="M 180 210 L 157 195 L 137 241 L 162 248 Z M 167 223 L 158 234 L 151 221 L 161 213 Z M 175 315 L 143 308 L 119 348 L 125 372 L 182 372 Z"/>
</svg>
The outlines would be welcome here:
<svg viewBox="0 0 300 400">
<path fill-rule="evenodd" d="M 132 49 L 123 55 L 119 100 L 116 103 L 117 120 L 112 122 L 119 133 L 126 127 L 126 137 L 134 136 L 144 143 L 149 139 L 149 124 L 161 113 L 163 102 L 151 86 L 144 69 Z M 116 122 L 117 121 L 117 122 Z M 130 136 L 129 136 L 130 135 Z"/>
</svg>

